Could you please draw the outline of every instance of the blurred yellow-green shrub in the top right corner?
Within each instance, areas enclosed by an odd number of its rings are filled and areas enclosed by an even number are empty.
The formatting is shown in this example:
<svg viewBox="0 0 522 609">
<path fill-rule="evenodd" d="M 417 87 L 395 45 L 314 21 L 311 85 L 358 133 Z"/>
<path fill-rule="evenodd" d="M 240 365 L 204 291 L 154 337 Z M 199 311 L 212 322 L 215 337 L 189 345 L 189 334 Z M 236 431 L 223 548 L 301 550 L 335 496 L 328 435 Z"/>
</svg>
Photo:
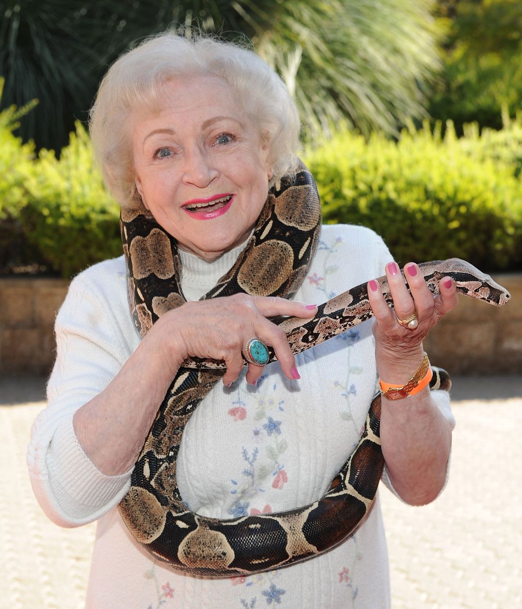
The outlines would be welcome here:
<svg viewBox="0 0 522 609">
<path fill-rule="evenodd" d="M 431 95 L 435 119 L 501 128 L 501 108 L 521 108 L 522 3 L 520 0 L 438 0 L 434 15 L 445 29 L 444 69 Z"/>
</svg>

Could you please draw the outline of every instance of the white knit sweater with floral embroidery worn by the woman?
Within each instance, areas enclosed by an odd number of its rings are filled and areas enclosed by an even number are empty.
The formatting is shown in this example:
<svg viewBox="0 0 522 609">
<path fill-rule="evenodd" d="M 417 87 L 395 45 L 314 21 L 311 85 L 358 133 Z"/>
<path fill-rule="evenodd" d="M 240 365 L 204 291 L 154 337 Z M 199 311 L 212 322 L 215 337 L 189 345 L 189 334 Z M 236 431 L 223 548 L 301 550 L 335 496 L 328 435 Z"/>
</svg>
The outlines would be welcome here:
<svg viewBox="0 0 522 609">
<path fill-rule="evenodd" d="M 182 253 L 183 291 L 196 300 L 232 266 L 238 250 L 208 264 Z M 321 303 L 383 275 L 391 260 L 377 235 L 361 227 L 325 226 L 296 300 Z M 98 520 L 89 609 L 386 609 L 388 557 L 377 498 L 354 535 L 326 554 L 251 577 L 190 577 L 153 560 L 128 533 L 116 506 L 130 472 L 105 476 L 83 452 L 72 426 L 78 407 L 117 374 L 140 337 L 127 305 L 123 257 L 78 275 L 56 322 L 57 361 L 29 446 L 29 473 L 43 510 L 60 526 Z M 218 383 L 198 406 L 178 457 L 181 495 L 205 516 L 288 510 L 322 496 L 360 437 L 375 392 L 371 323 L 363 323 L 296 357 L 301 380 L 279 364 L 257 387 L 244 373 Z M 434 392 L 454 424 L 448 396 Z M 389 482 L 388 482 L 389 485 Z"/>
</svg>

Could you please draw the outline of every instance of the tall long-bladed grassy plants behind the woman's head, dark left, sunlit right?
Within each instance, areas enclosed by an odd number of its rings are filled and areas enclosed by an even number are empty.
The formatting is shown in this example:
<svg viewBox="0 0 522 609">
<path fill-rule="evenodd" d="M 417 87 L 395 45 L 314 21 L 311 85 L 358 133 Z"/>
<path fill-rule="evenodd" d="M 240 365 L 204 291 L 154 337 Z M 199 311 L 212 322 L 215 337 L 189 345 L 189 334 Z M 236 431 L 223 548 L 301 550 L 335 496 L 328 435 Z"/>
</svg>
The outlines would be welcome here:
<svg viewBox="0 0 522 609">
<path fill-rule="evenodd" d="M 368 133 L 422 116 L 439 66 L 432 0 L 4 0 L 2 107 L 39 100 L 19 134 L 60 150 L 86 121 L 111 62 L 143 38 L 185 27 L 252 40 L 285 79 L 304 132 L 347 118 Z"/>
</svg>

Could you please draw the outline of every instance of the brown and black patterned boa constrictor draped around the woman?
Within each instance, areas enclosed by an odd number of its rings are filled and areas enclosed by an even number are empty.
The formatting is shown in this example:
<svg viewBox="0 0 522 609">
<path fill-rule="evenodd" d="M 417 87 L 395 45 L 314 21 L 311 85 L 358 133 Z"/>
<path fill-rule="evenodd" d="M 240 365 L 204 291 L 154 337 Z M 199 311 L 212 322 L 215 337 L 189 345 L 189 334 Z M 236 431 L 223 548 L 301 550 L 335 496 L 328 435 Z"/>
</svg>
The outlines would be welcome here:
<svg viewBox="0 0 522 609">
<path fill-rule="evenodd" d="M 271 189 L 254 233 L 237 262 L 203 298 L 236 292 L 291 298 L 304 280 L 318 241 L 321 211 L 315 182 L 304 166 Z M 123 209 L 122 239 L 128 295 L 144 335 L 156 319 L 185 301 L 175 241 L 144 209 Z M 426 262 L 420 269 L 432 292 L 445 275 L 459 292 L 503 305 L 509 294 L 467 262 Z M 378 280 L 389 305 L 386 278 Z M 372 316 L 366 284 L 318 308 L 317 315 L 274 320 L 299 353 Z M 270 350 L 270 361 L 274 361 Z M 245 362 L 246 364 L 246 362 Z M 119 512 L 136 540 L 175 569 L 207 577 L 252 574 L 327 551 L 355 530 L 370 509 L 383 471 L 379 438 L 380 394 L 372 400 L 364 431 L 325 496 L 288 512 L 205 518 L 187 509 L 176 485 L 181 434 L 198 403 L 223 375 L 223 362 L 184 362 L 158 410 L 134 466 Z M 432 388 L 440 387 L 434 375 Z M 444 380 L 442 381 L 444 382 Z M 448 388 L 448 380 L 442 385 Z M 438 384 L 437 384 L 438 383 Z"/>
</svg>

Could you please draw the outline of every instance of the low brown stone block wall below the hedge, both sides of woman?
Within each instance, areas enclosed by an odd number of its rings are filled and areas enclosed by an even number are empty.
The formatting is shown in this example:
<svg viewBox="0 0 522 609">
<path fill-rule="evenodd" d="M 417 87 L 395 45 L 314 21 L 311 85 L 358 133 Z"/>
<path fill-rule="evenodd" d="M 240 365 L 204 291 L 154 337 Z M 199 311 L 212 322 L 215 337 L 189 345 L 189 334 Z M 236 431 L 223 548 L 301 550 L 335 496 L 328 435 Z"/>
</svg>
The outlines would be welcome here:
<svg viewBox="0 0 522 609">
<path fill-rule="evenodd" d="M 433 364 L 454 375 L 521 373 L 522 275 L 496 275 L 495 280 L 512 300 L 498 309 L 461 297 L 458 308 L 425 341 Z M 66 292 L 63 280 L 0 279 L 0 376 L 49 374 L 54 319 Z"/>
</svg>

